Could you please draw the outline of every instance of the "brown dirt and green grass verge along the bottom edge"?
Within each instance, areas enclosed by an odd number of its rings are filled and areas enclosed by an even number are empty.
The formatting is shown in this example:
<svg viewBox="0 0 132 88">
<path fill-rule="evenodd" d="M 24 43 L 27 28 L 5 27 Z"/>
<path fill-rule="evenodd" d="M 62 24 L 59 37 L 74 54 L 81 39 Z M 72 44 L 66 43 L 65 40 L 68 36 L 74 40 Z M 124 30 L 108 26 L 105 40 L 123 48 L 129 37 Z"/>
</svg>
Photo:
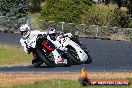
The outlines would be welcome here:
<svg viewBox="0 0 132 88">
<path fill-rule="evenodd" d="M 78 81 L 80 76 L 81 72 L 1 73 L 0 88 L 80 88 L 81 85 Z M 126 79 L 132 82 L 132 72 L 89 72 L 89 78 L 91 81 L 97 79 Z M 59 81 L 60 84 L 58 84 Z M 114 88 L 115 86 L 97 86 L 97 88 L 105 87 Z M 89 88 L 96 88 L 96 86 L 90 86 Z M 132 88 L 132 86 L 121 86 L 121 88 Z"/>
</svg>

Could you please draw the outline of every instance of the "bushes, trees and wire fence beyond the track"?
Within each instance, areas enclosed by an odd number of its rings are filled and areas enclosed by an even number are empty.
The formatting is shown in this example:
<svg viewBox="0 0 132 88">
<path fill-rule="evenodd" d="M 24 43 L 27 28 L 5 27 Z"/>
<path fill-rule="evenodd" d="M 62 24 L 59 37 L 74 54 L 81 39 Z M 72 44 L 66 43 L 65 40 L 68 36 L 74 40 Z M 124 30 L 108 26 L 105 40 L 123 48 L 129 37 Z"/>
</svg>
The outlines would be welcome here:
<svg viewBox="0 0 132 88">
<path fill-rule="evenodd" d="M 0 32 L 51 27 L 80 37 L 132 40 L 132 0 L 0 0 Z"/>
</svg>

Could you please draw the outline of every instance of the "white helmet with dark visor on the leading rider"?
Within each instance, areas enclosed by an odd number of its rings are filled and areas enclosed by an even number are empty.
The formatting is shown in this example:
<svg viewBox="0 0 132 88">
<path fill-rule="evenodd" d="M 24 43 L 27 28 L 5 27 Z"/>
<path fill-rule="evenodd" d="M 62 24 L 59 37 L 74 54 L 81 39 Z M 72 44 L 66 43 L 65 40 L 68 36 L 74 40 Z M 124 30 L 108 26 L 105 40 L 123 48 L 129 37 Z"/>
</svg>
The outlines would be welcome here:
<svg viewBox="0 0 132 88">
<path fill-rule="evenodd" d="M 30 27 L 27 24 L 21 25 L 19 31 L 21 32 L 21 36 L 23 38 L 27 38 L 30 34 Z"/>
</svg>

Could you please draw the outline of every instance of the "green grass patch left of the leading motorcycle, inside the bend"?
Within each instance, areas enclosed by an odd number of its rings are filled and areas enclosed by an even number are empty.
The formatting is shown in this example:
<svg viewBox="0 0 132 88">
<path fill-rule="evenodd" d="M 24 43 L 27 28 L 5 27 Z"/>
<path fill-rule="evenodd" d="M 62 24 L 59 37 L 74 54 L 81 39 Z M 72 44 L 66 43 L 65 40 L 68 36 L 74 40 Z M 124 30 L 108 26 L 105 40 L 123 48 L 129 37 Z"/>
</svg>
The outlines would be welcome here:
<svg viewBox="0 0 132 88">
<path fill-rule="evenodd" d="M 21 46 L 0 44 L 0 65 L 31 63 L 31 58 Z"/>
</svg>

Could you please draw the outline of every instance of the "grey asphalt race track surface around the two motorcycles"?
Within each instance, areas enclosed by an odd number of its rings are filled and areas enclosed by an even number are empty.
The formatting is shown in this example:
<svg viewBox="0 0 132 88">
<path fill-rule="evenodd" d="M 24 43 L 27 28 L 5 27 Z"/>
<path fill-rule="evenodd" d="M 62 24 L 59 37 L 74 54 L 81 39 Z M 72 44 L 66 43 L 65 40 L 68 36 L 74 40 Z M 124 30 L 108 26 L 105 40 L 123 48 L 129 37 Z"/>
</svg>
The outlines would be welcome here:
<svg viewBox="0 0 132 88">
<path fill-rule="evenodd" d="M 20 45 L 19 34 L 0 33 L 0 44 Z M 33 68 L 29 65 L 0 66 L 0 72 L 80 72 L 88 71 L 132 71 L 132 42 L 97 39 L 79 39 L 88 46 L 93 62 L 88 65 L 48 68 L 45 65 Z"/>
</svg>

